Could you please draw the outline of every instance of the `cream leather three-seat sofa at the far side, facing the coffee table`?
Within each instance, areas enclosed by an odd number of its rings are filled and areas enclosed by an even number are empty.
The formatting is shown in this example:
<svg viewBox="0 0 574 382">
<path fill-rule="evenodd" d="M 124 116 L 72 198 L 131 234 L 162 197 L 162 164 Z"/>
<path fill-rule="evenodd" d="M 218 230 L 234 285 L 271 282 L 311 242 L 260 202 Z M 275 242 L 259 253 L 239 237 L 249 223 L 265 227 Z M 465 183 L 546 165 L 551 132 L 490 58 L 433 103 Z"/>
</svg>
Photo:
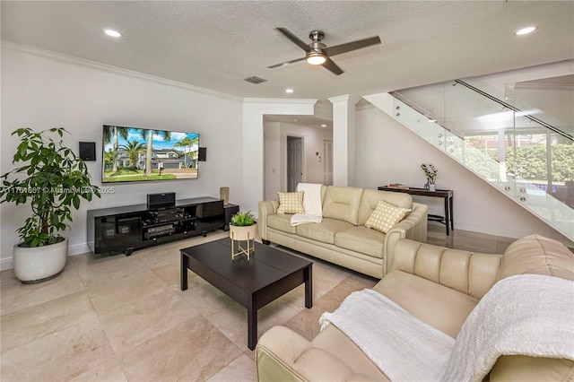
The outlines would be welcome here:
<svg viewBox="0 0 574 382">
<path fill-rule="evenodd" d="M 365 221 L 380 200 L 413 211 L 387 234 L 366 228 Z M 323 221 L 296 227 L 291 227 L 291 214 L 277 213 L 277 200 L 259 202 L 259 236 L 265 244 L 271 241 L 377 278 L 385 274 L 386 254 L 399 239 L 427 240 L 428 207 L 413 203 L 411 195 L 323 186 L 321 202 Z"/>
</svg>

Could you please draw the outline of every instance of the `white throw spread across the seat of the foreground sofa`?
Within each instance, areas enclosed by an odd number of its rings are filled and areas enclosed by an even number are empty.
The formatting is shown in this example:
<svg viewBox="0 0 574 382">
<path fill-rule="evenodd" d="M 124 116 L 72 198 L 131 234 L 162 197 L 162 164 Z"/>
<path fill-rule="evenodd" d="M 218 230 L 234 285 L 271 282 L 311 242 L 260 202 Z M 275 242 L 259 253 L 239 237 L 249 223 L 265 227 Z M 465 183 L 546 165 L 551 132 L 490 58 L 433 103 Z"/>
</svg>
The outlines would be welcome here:
<svg viewBox="0 0 574 382">
<path fill-rule="evenodd" d="M 338 327 L 392 381 L 438 380 L 455 340 L 369 289 L 352 292 L 321 330 Z"/>
</svg>

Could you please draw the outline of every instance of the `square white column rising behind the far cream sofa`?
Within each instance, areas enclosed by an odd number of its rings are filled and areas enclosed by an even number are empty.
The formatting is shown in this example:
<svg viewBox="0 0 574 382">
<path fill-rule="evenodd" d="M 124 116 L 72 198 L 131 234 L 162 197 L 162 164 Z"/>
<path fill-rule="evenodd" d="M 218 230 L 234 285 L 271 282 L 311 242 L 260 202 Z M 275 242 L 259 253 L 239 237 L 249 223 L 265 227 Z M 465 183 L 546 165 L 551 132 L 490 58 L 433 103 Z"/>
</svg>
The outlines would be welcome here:
<svg viewBox="0 0 574 382">
<path fill-rule="evenodd" d="M 355 103 L 349 94 L 329 99 L 333 104 L 333 185 L 355 184 Z"/>
</svg>

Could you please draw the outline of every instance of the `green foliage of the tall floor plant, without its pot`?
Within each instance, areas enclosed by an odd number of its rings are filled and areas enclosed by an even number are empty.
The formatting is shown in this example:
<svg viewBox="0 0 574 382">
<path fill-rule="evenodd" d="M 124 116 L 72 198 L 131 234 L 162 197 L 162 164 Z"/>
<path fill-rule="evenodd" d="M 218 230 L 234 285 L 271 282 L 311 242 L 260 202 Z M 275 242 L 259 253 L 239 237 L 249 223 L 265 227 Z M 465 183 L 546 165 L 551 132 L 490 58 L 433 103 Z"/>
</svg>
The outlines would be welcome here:
<svg viewBox="0 0 574 382">
<path fill-rule="evenodd" d="M 12 133 L 20 138 L 13 164 L 22 163 L 22 166 L 0 177 L 0 203 L 30 202 L 32 216 L 17 230 L 29 247 L 63 240 L 57 232 L 69 227 L 71 208 L 79 209 L 81 199 L 90 201 L 93 195 L 100 197 L 98 187 L 91 184 L 85 163 L 65 147 L 64 133 L 69 134 L 63 127 L 39 133 L 19 128 Z M 55 140 L 52 135 L 59 139 Z"/>
</svg>

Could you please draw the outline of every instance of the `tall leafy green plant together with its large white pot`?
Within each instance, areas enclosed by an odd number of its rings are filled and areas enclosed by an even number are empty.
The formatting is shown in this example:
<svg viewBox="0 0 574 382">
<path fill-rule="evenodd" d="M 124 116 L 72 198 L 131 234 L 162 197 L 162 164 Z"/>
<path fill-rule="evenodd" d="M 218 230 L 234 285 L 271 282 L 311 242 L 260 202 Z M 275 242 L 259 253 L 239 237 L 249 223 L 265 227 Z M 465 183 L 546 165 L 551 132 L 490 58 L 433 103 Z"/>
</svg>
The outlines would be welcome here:
<svg viewBox="0 0 574 382">
<path fill-rule="evenodd" d="M 68 239 L 59 232 L 69 228 L 72 208 L 77 210 L 82 199 L 100 197 L 85 163 L 64 145 L 65 133 L 54 127 L 38 133 L 19 128 L 12 134 L 20 138 L 13 156 L 13 165 L 20 167 L 1 177 L 0 203 L 30 205 L 30 217 L 17 230 L 23 241 L 13 247 L 14 273 L 23 283 L 47 281 L 62 272 Z"/>
</svg>

